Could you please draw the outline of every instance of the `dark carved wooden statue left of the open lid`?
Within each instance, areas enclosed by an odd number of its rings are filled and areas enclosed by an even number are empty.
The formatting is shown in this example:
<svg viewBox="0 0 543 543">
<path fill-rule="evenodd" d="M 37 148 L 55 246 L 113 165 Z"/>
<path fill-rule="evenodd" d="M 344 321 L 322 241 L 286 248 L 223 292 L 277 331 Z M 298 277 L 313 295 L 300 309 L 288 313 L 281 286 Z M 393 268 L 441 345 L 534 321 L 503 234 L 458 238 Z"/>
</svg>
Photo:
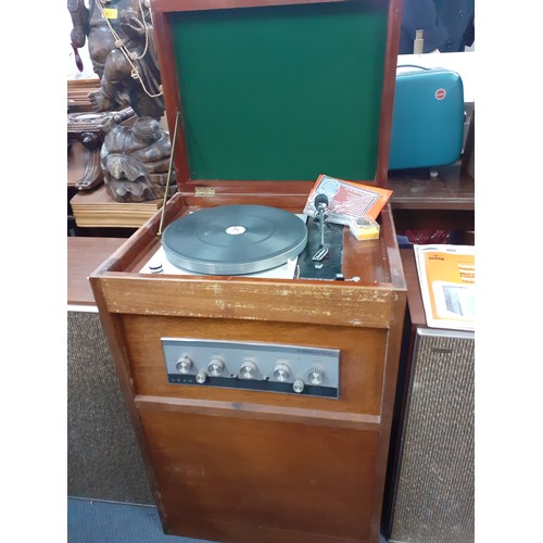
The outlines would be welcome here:
<svg viewBox="0 0 543 543">
<path fill-rule="evenodd" d="M 171 141 L 162 130 L 161 76 L 148 2 L 143 0 L 68 0 L 72 46 L 88 39 L 89 55 L 100 89 L 89 94 L 96 112 L 130 106 L 134 127 L 108 115 L 100 152 L 104 182 L 116 201 L 141 202 L 164 195 Z M 176 191 L 175 175 L 169 192 Z"/>
</svg>

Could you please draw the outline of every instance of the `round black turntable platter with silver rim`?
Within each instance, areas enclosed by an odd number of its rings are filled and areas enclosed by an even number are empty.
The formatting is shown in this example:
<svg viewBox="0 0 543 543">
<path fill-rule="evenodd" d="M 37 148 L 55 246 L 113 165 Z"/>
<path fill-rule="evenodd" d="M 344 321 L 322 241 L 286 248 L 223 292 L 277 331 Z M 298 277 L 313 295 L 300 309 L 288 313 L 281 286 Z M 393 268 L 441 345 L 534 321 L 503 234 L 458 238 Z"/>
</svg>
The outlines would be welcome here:
<svg viewBox="0 0 543 543">
<path fill-rule="evenodd" d="M 224 205 L 186 215 L 163 232 L 167 260 L 198 274 L 244 275 L 298 256 L 307 227 L 296 215 L 266 205 Z"/>
</svg>

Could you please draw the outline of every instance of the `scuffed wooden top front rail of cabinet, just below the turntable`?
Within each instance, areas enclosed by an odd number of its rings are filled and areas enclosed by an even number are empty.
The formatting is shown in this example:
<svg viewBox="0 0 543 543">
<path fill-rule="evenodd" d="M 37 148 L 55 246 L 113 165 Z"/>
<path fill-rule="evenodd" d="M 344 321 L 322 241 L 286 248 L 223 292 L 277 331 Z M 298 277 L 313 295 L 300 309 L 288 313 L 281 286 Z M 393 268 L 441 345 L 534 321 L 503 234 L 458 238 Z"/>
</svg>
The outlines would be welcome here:
<svg viewBox="0 0 543 543">
<path fill-rule="evenodd" d="M 217 278 L 218 279 L 218 278 Z M 390 288 L 318 281 L 242 279 L 212 276 L 175 278 L 104 277 L 112 313 L 180 317 L 282 320 L 356 327 L 388 327 L 395 291 Z M 179 298 L 184 303 L 179 304 Z M 263 307 L 266 311 L 263 311 Z"/>
</svg>

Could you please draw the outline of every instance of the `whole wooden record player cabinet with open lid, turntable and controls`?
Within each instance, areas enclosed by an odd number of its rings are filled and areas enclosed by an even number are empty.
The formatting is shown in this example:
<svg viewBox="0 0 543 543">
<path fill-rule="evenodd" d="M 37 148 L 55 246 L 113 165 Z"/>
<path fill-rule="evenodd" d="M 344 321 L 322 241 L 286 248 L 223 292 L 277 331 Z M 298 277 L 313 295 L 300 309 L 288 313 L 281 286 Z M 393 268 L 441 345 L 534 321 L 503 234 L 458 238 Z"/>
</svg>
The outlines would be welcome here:
<svg viewBox="0 0 543 543">
<path fill-rule="evenodd" d="M 151 3 L 178 192 L 90 282 L 166 533 L 379 540 L 391 209 L 367 241 L 303 210 L 319 174 L 386 185 L 399 4 Z"/>
</svg>

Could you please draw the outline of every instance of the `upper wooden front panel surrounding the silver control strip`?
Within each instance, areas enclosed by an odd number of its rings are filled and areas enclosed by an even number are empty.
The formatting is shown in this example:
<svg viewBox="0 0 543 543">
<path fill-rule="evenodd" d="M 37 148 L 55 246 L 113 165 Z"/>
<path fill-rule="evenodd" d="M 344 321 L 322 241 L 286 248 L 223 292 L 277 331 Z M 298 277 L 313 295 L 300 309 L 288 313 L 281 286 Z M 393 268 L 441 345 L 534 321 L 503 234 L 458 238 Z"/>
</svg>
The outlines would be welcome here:
<svg viewBox="0 0 543 543">
<path fill-rule="evenodd" d="M 123 330 L 136 394 L 380 415 L 387 332 L 289 323 L 125 315 Z M 340 397 L 311 397 L 167 382 L 161 338 L 262 342 L 340 350 Z"/>
</svg>

